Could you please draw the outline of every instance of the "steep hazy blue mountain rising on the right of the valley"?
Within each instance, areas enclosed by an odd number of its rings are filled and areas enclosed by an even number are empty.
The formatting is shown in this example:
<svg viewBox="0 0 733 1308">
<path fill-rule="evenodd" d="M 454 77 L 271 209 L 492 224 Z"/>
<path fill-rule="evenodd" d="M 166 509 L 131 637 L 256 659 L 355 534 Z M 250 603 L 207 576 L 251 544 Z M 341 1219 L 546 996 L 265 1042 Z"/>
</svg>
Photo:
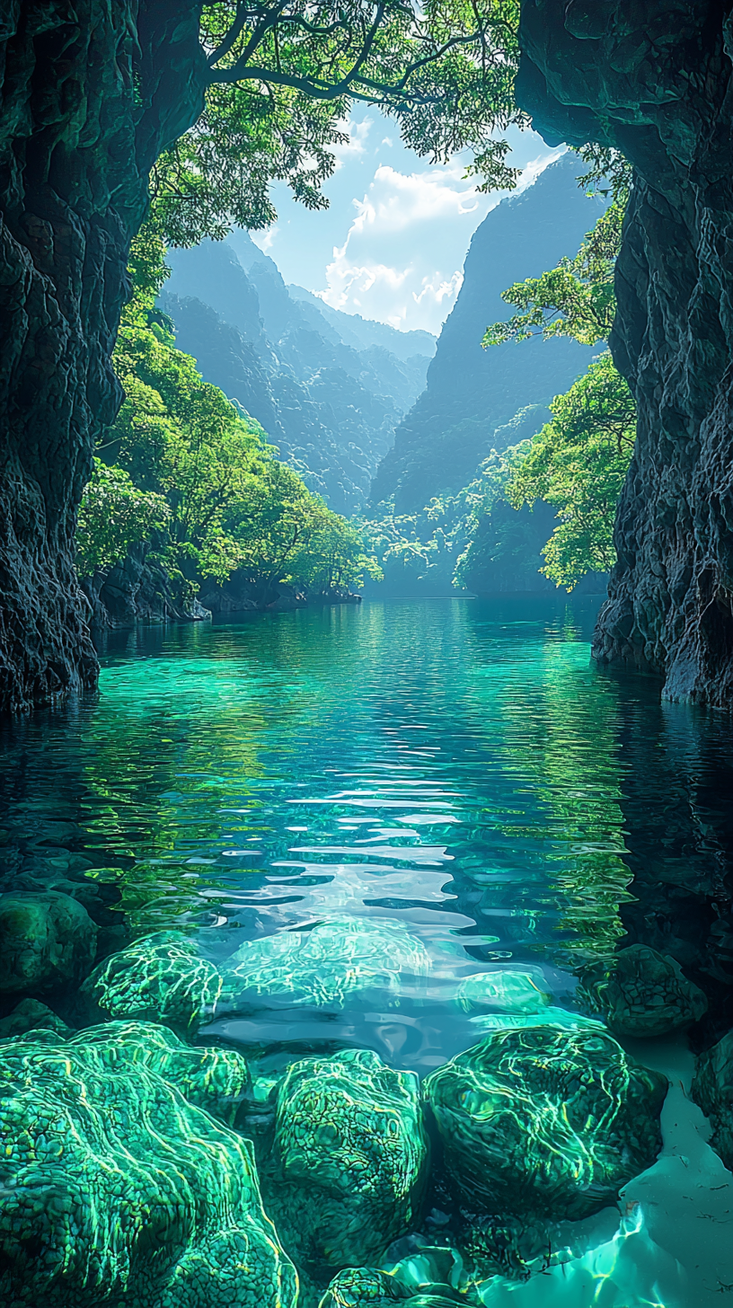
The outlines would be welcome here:
<svg viewBox="0 0 733 1308">
<path fill-rule="evenodd" d="M 425 390 L 397 428 L 374 477 L 374 505 L 394 496 L 397 513 L 412 513 L 466 485 L 493 446 L 501 450 L 534 434 L 537 426 L 525 430 L 525 421 L 520 430 L 512 422 L 521 409 L 531 415 L 530 405 L 546 405 L 588 368 L 593 352 L 573 340 L 480 344 L 490 323 L 510 317 L 501 292 L 575 255 L 603 212 L 602 200 L 579 188 L 577 173 L 577 157 L 563 156 L 526 190 L 501 200 L 476 229 Z"/>
</svg>

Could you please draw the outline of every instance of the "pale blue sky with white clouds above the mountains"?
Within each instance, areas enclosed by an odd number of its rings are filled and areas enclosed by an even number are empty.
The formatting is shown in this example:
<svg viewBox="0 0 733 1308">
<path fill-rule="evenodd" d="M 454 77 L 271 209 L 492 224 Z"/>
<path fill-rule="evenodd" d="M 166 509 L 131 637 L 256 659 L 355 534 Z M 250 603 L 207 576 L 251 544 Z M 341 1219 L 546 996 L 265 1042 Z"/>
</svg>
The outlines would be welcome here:
<svg viewBox="0 0 733 1308">
<path fill-rule="evenodd" d="M 277 221 L 253 239 L 285 281 L 334 309 L 437 334 L 461 288 L 471 237 L 501 194 L 479 195 L 463 181 L 466 157 L 446 166 L 418 158 L 397 124 L 372 107 L 355 107 L 348 133 L 325 186 L 330 208 L 312 213 L 277 184 Z M 509 141 L 522 184 L 562 153 L 529 131 L 512 129 Z"/>
</svg>

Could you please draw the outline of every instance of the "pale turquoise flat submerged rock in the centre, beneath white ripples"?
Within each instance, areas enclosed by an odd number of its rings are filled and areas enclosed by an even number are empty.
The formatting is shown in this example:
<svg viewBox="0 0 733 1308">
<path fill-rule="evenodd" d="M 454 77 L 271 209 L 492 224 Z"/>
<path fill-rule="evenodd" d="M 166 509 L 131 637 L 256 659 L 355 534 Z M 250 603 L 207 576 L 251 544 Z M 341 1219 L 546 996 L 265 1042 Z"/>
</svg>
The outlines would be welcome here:
<svg viewBox="0 0 733 1308">
<path fill-rule="evenodd" d="M 423 976 L 431 960 L 399 922 L 334 917 L 310 931 L 279 931 L 247 940 L 226 963 L 226 985 L 292 1003 L 340 1008 L 355 990 L 395 993 L 401 973 Z"/>
</svg>

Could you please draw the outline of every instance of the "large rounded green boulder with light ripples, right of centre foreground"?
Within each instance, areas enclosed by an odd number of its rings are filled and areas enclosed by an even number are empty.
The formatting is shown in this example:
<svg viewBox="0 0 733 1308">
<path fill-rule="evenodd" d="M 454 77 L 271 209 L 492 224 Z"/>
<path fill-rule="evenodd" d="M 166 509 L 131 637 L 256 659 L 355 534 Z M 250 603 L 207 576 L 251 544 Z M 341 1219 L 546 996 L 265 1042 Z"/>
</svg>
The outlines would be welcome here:
<svg viewBox="0 0 733 1308">
<path fill-rule="evenodd" d="M 580 1218 L 654 1162 L 666 1084 L 601 1029 L 522 1025 L 438 1067 L 424 1092 L 469 1207 Z"/>
</svg>

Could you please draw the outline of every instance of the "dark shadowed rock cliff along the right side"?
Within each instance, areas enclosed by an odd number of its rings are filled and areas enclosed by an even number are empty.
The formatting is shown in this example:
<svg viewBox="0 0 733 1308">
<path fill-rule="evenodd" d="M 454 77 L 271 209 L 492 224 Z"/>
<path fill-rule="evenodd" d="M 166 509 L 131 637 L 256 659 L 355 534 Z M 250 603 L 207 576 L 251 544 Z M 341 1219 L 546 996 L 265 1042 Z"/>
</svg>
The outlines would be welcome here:
<svg viewBox="0 0 733 1308">
<path fill-rule="evenodd" d="M 639 439 L 594 654 L 716 706 L 733 700 L 730 10 L 525 0 L 518 80 L 547 141 L 615 145 L 636 170 L 611 349 Z"/>
</svg>

